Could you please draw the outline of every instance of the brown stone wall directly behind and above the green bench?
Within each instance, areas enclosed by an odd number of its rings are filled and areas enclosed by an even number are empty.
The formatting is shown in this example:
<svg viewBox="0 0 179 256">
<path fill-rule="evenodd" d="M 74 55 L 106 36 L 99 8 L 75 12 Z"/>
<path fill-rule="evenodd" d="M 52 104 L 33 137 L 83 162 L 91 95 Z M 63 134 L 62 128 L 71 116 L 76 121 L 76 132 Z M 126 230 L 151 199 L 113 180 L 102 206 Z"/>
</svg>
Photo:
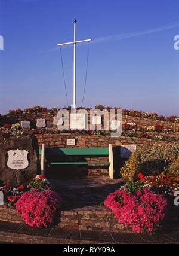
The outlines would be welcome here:
<svg viewBox="0 0 179 256">
<path fill-rule="evenodd" d="M 112 138 L 110 136 L 100 136 L 100 135 L 75 135 L 74 133 L 62 133 L 62 134 L 39 134 L 35 135 L 38 139 L 39 148 L 42 147 L 42 144 L 45 144 L 45 148 L 107 148 L 109 144 L 112 144 L 113 147 L 113 160 L 114 160 L 114 169 L 115 169 L 115 178 L 119 178 L 119 170 L 124 164 L 126 159 L 120 157 L 121 145 L 135 145 L 134 142 L 125 137 L 116 137 Z M 75 146 L 68 146 L 67 139 L 75 139 Z M 166 141 L 154 141 L 152 139 L 143 139 L 143 138 L 132 138 L 139 146 L 150 147 L 155 143 L 165 145 L 168 142 Z M 59 161 L 64 160 L 64 157 L 58 157 Z M 101 156 L 91 156 L 91 157 L 67 157 L 66 161 L 108 161 L 108 157 Z M 54 169 L 54 172 L 53 172 Z M 100 175 L 106 176 L 109 175 L 109 166 L 102 165 L 89 165 L 89 166 L 56 166 L 53 169 L 47 167 L 48 175 L 54 176 L 54 174 L 59 173 L 63 175 L 69 173 L 69 175 L 79 175 L 79 176 L 93 176 Z M 60 172 L 59 172 L 60 170 Z M 48 176 L 47 175 L 47 176 Z M 51 175 L 48 178 L 51 178 Z"/>
</svg>

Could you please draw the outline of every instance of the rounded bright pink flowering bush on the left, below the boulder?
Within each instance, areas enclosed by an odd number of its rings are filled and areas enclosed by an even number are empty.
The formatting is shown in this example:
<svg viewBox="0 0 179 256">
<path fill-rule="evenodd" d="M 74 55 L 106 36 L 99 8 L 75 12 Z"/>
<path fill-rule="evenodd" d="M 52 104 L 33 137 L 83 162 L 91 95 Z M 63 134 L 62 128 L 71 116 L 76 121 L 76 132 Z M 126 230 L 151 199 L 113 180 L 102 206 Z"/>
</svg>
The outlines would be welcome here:
<svg viewBox="0 0 179 256">
<path fill-rule="evenodd" d="M 61 207 L 61 196 L 55 191 L 28 191 L 16 203 L 21 219 L 30 226 L 47 227 Z"/>
</svg>

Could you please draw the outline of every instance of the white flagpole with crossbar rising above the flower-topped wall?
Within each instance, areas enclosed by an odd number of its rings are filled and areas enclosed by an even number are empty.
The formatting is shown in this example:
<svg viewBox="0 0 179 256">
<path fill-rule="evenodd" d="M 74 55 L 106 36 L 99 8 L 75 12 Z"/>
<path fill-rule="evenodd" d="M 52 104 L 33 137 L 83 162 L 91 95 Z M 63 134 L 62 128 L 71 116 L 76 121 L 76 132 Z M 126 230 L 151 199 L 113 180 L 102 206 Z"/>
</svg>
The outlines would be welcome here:
<svg viewBox="0 0 179 256">
<path fill-rule="evenodd" d="M 66 42 L 64 44 L 58 44 L 58 46 L 66 44 L 74 44 L 74 54 L 73 54 L 73 108 L 76 108 L 76 43 L 77 42 L 90 42 L 92 39 L 76 41 L 76 20 L 74 20 L 74 41 Z"/>
</svg>

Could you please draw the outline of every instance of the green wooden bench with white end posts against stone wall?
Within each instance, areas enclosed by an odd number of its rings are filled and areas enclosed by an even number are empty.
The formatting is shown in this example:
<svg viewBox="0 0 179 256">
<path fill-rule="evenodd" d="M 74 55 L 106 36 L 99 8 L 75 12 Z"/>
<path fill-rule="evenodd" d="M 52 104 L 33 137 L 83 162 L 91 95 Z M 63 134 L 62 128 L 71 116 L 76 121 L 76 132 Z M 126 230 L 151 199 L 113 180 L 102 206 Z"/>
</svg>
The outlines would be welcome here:
<svg viewBox="0 0 179 256">
<path fill-rule="evenodd" d="M 50 162 L 51 165 L 61 164 L 108 164 L 109 176 L 114 178 L 113 169 L 113 150 L 112 145 L 109 144 L 108 148 L 45 148 L 45 144 L 42 144 L 42 149 L 39 150 L 41 155 L 41 174 L 45 172 L 45 157 L 47 156 L 109 156 L 107 162 Z"/>
</svg>

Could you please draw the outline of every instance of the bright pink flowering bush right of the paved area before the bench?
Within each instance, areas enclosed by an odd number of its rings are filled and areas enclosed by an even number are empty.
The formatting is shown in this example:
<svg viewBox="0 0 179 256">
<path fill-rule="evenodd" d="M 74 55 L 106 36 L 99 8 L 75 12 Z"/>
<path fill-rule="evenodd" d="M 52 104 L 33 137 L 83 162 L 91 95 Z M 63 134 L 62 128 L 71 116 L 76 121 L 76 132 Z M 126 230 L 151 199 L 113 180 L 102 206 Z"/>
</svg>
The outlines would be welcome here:
<svg viewBox="0 0 179 256">
<path fill-rule="evenodd" d="M 115 212 L 115 218 L 137 233 L 154 233 L 161 227 L 166 215 L 167 200 L 148 188 L 134 194 L 117 190 L 110 194 L 104 205 Z"/>
</svg>

